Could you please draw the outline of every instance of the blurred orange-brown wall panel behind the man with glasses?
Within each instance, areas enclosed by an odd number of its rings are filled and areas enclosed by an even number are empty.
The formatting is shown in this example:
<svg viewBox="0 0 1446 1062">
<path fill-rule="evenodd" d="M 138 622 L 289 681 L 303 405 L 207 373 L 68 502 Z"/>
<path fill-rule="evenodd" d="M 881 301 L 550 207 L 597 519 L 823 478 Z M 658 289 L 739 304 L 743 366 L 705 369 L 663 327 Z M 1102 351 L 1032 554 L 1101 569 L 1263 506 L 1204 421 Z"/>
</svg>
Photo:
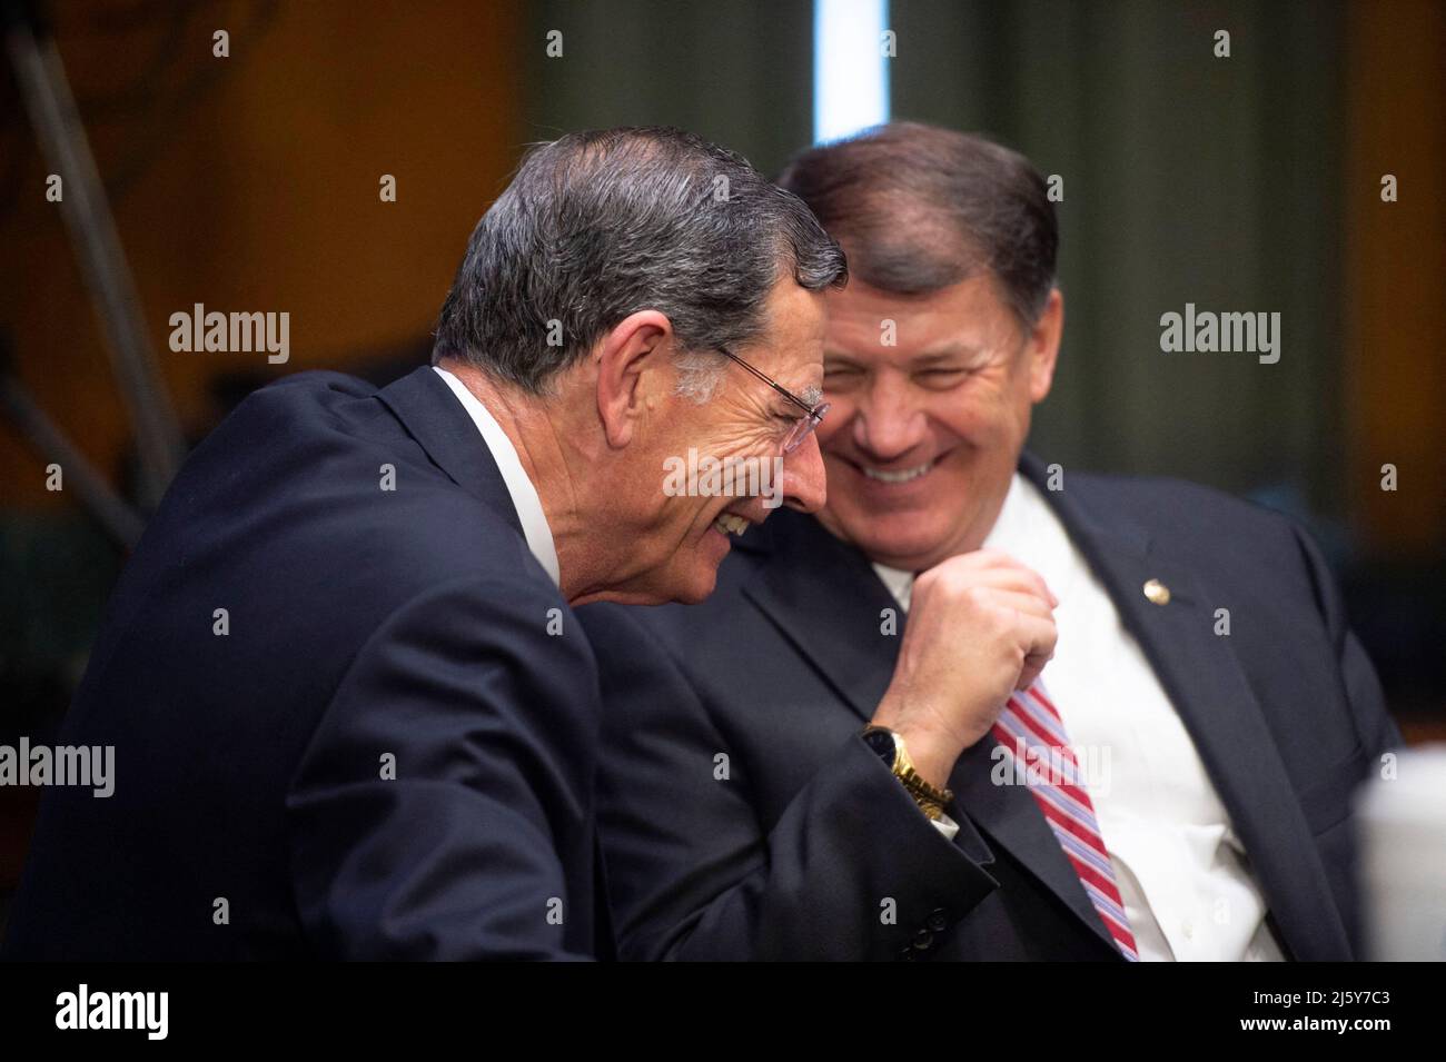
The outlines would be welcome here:
<svg viewBox="0 0 1446 1062">
<path fill-rule="evenodd" d="M 108 179 L 145 319 L 185 425 L 221 368 L 346 367 L 415 342 L 473 224 L 516 165 L 521 7 L 506 3 L 52 4 Z M 189 10 L 174 22 L 176 10 Z M 230 58 L 213 56 L 213 32 Z M 0 325 L 23 381 L 107 472 L 129 428 L 16 90 L 0 175 Z M 132 169 L 136 166 L 137 169 Z M 398 202 L 377 197 L 382 173 Z M 175 354 L 168 318 L 204 302 L 288 311 L 291 360 Z M 0 504 L 59 506 L 0 425 Z"/>
</svg>

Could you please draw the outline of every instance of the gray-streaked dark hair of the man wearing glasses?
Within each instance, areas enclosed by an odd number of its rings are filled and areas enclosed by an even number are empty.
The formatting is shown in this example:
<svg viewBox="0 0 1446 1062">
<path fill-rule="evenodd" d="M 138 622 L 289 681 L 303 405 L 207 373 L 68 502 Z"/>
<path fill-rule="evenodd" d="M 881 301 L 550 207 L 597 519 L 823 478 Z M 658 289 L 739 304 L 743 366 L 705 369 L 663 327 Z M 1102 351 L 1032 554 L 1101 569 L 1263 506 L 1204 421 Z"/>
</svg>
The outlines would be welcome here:
<svg viewBox="0 0 1446 1062">
<path fill-rule="evenodd" d="M 787 276 L 823 290 L 847 266 L 808 208 L 742 156 L 668 127 L 570 133 L 529 150 L 473 230 L 432 364 L 466 358 L 544 393 L 642 309 L 668 316 L 680 355 L 742 347 Z M 681 360 L 680 390 L 711 393 L 717 366 Z"/>
</svg>

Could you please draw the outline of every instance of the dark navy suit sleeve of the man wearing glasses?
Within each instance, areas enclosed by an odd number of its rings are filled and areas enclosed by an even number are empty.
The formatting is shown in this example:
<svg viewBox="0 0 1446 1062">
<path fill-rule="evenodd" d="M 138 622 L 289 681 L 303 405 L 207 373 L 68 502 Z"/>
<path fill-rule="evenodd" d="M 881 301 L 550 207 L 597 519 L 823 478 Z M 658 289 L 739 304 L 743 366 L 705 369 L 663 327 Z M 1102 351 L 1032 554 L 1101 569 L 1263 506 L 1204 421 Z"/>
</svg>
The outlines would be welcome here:
<svg viewBox="0 0 1446 1062">
<path fill-rule="evenodd" d="M 591 805 L 597 688 L 586 642 L 547 633 L 557 604 L 453 582 L 362 647 L 286 799 L 322 955 L 586 958 L 561 923 L 590 900 L 568 896 L 555 841 Z"/>
</svg>

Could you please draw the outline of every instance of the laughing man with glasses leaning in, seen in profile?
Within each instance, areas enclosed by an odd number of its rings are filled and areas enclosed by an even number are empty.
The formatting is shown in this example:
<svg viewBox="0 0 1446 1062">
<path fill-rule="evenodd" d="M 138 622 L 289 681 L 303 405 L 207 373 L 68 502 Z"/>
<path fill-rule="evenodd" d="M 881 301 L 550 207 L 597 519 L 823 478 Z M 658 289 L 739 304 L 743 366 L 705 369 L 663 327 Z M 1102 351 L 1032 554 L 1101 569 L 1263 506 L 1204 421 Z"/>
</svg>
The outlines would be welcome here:
<svg viewBox="0 0 1446 1062">
<path fill-rule="evenodd" d="M 843 279 L 794 195 L 694 136 L 532 150 L 432 366 L 288 379 L 191 455 L 61 735 L 114 748 L 114 793 L 46 792 L 7 957 L 604 952 L 570 605 L 698 601 L 769 501 L 817 509 Z M 771 497 L 667 490 L 694 449 Z"/>
</svg>

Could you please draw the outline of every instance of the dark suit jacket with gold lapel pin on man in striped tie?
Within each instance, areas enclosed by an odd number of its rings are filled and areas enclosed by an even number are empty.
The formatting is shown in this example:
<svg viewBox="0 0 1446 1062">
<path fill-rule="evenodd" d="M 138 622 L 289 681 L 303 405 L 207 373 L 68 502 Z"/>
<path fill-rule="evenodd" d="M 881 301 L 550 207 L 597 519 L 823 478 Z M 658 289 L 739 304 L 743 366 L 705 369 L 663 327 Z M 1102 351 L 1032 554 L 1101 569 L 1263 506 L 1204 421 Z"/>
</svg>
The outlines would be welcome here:
<svg viewBox="0 0 1446 1062">
<path fill-rule="evenodd" d="M 1045 497 L 1184 720 L 1287 955 L 1356 957 L 1349 795 L 1400 735 L 1314 548 L 1183 483 L 1076 472 Z M 992 738 L 950 779 L 953 842 L 860 741 L 902 634 L 886 608 L 859 552 L 781 510 L 707 603 L 578 611 L 622 958 L 1121 959 L 1032 795 L 991 785 Z"/>
</svg>

